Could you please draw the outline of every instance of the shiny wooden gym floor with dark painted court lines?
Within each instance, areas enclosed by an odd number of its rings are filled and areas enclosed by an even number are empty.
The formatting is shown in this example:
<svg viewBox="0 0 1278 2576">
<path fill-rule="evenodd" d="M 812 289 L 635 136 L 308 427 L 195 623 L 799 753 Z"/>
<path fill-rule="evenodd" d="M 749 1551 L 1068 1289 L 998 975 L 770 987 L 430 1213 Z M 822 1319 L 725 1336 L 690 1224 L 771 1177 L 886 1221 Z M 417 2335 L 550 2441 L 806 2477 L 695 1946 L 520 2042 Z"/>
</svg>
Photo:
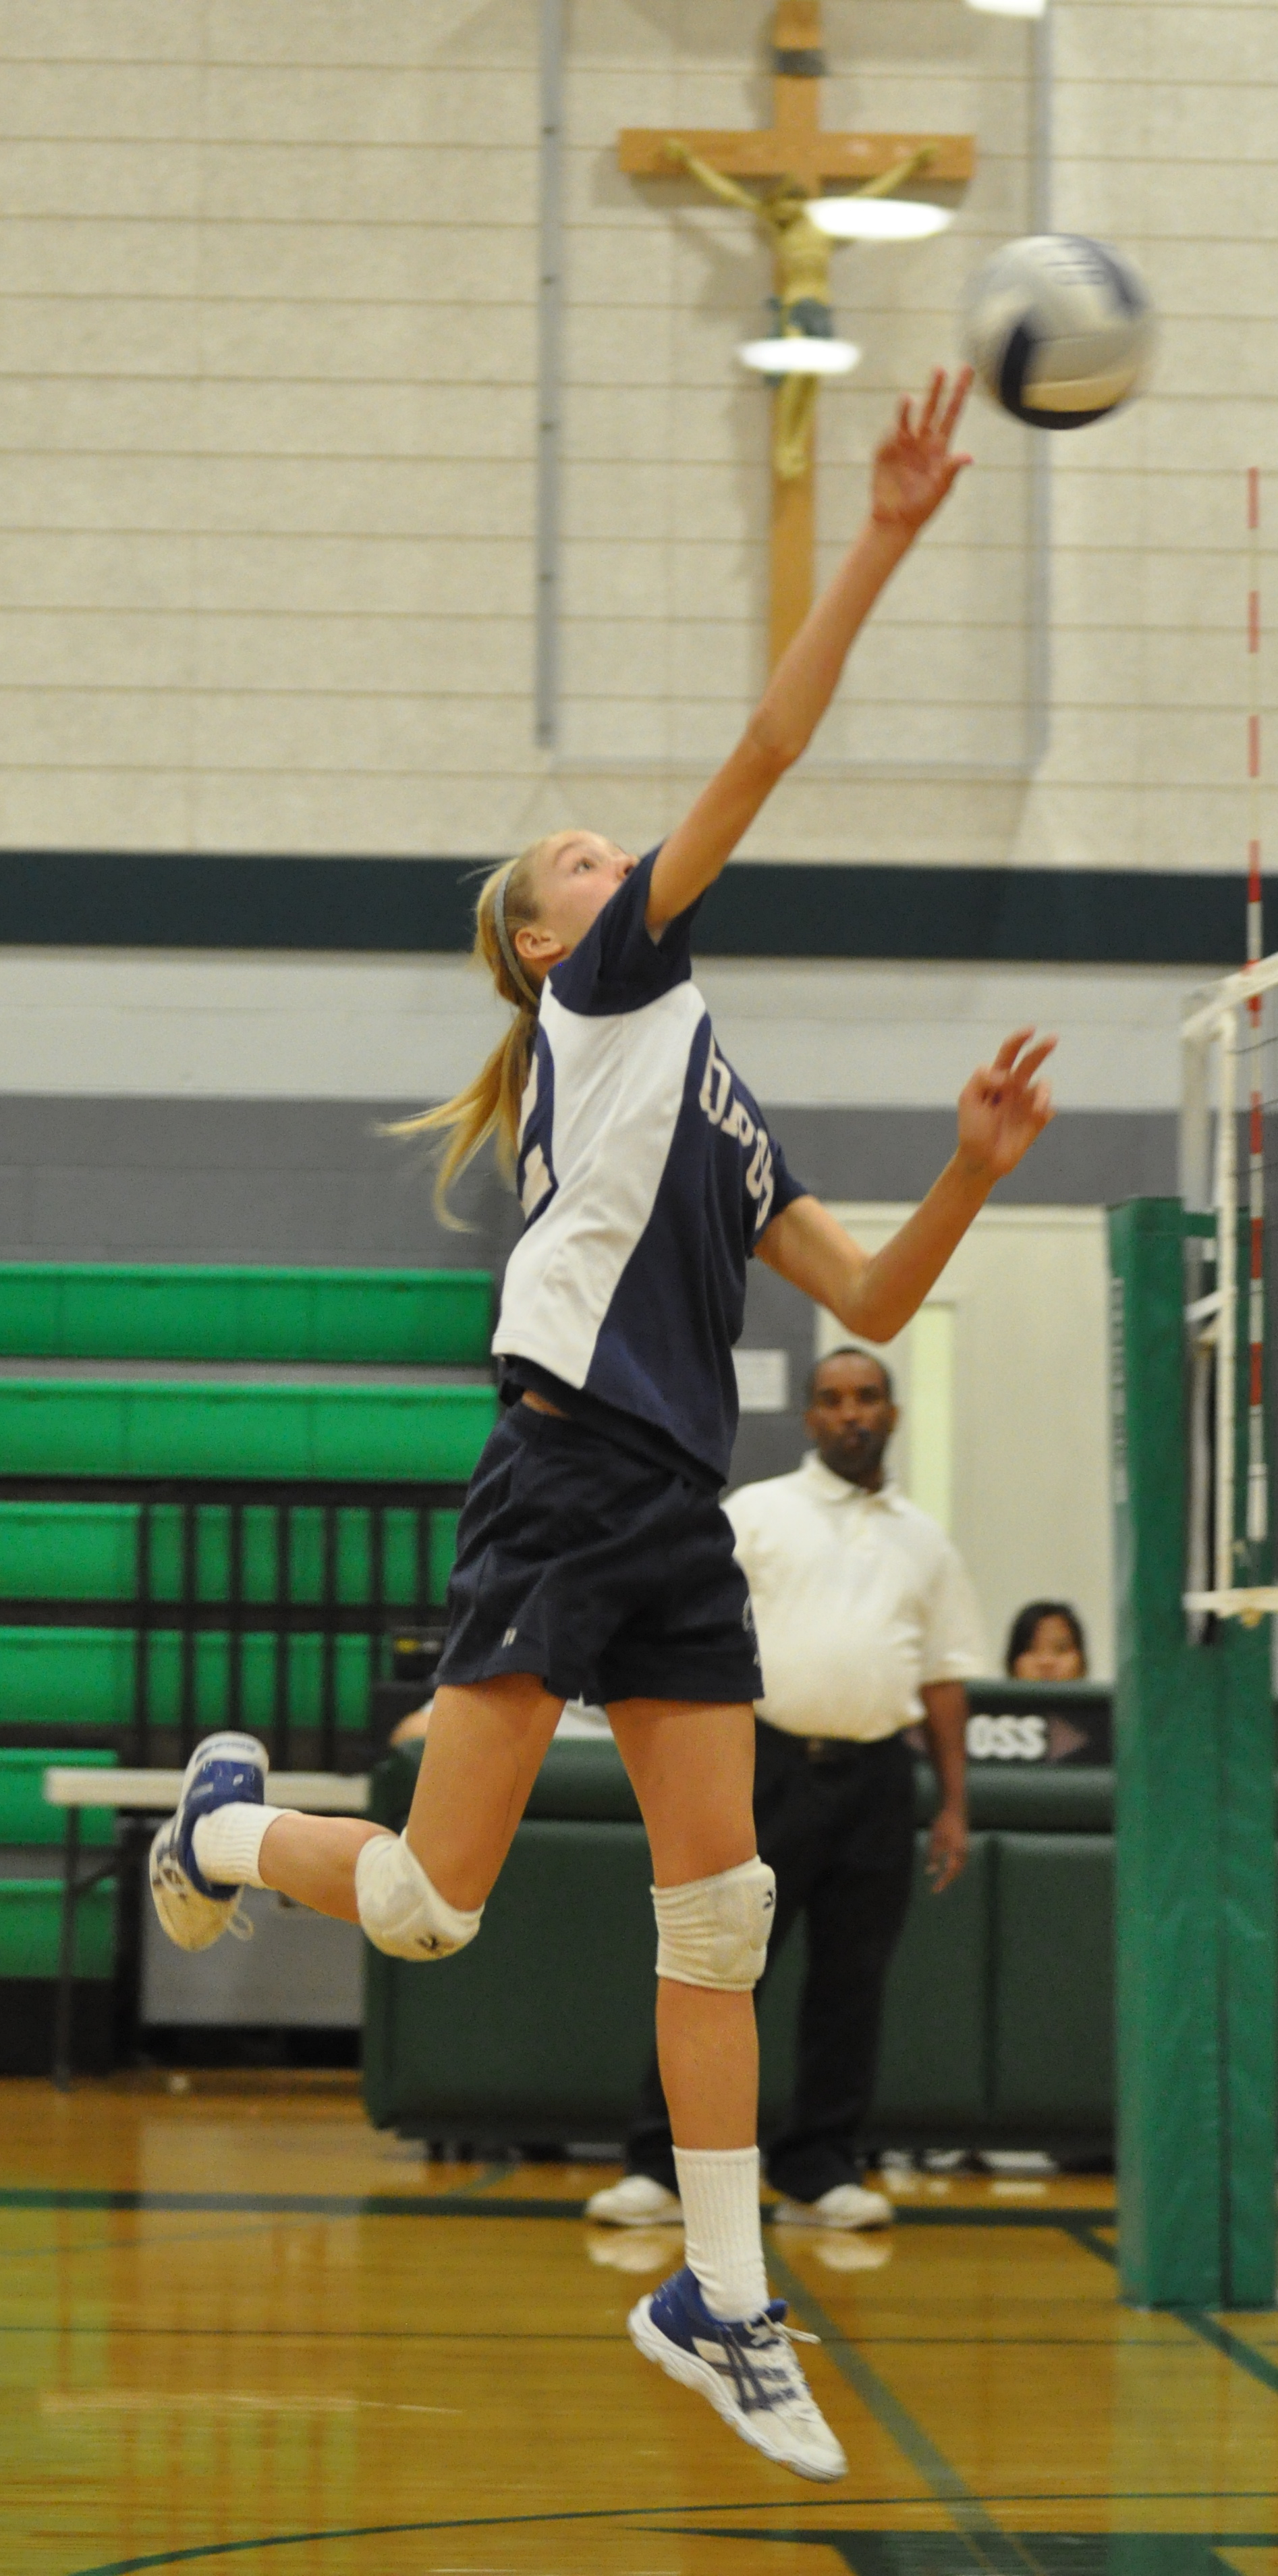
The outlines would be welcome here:
<svg viewBox="0 0 1278 2576">
<path fill-rule="evenodd" d="M 1108 2184 L 773 2233 L 814 2488 L 631 2352 L 680 2239 L 598 2179 L 423 2166 L 330 2076 L 0 2084 L 0 2568 L 1278 2576 L 1278 2321 L 1121 2308 Z"/>
</svg>

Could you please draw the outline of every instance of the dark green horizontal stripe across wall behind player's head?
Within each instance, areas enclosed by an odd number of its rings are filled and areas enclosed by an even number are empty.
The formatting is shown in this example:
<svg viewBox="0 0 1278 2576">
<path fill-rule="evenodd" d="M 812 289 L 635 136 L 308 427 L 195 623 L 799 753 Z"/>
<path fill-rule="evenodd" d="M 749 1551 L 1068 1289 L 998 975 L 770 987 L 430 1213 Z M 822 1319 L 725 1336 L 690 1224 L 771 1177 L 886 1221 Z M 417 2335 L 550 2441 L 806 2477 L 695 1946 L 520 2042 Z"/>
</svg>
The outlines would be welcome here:
<svg viewBox="0 0 1278 2576">
<path fill-rule="evenodd" d="M 8 948 L 456 953 L 490 860 L 0 853 Z M 1278 945 L 1278 889 L 1265 902 Z M 1242 876 L 1136 868 L 817 868 L 739 863 L 706 896 L 701 956 L 1229 966 Z"/>
</svg>

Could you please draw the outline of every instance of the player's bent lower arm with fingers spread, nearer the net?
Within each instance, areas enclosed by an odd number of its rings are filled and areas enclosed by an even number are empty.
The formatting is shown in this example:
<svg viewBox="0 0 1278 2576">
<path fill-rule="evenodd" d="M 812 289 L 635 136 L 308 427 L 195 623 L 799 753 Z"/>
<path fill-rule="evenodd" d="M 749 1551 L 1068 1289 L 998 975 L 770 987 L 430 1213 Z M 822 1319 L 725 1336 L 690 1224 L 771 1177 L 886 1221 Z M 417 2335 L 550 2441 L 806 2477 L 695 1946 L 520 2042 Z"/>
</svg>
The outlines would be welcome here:
<svg viewBox="0 0 1278 2576">
<path fill-rule="evenodd" d="M 1051 1121 L 1051 1092 L 1036 1074 L 1056 1046 L 1013 1030 L 958 1097 L 958 1149 L 881 1252 L 863 1252 L 817 1198 L 796 1198 L 765 1229 L 758 1252 L 791 1288 L 827 1306 L 845 1332 L 892 1342 L 935 1288 L 995 1180 L 1015 1172 Z"/>
</svg>

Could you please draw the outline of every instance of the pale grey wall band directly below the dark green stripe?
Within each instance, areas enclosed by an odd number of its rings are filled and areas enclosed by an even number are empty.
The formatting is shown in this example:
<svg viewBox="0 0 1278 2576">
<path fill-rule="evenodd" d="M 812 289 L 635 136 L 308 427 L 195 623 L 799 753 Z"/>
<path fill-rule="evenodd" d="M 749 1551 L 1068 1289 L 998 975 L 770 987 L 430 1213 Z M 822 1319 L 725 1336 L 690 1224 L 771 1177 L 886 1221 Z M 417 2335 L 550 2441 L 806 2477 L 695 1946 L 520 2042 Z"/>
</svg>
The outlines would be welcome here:
<svg viewBox="0 0 1278 2576">
<path fill-rule="evenodd" d="M 1172 1110 L 1175 969 L 698 963 L 768 1108 L 951 1108 L 1010 1028 L 1056 1030 L 1062 1110 Z M 0 948 L 3 1092 L 441 1100 L 508 1010 L 461 958 Z"/>
</svg>

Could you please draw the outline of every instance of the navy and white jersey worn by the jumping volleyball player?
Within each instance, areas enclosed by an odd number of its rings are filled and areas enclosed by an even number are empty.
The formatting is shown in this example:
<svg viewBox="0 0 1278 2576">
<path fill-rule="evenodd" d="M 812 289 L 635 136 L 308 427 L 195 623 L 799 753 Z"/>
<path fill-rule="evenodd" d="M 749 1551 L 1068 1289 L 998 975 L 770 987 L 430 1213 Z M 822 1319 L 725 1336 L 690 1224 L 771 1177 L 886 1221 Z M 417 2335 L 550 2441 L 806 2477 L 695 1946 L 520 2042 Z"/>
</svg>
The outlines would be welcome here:
<svg viewBox="0 0 1278 2576">
<path fill-rule="evenodd" d="M 644 927 L 657 853 L 541 994 L 518 1136 L 526 1231 L 492 1350 L 647 1425 L 719 1484 L 745 1265 L 801 1198 L 691 979 L 696 904 Z M 585 1412 L 585 1404 L 582 1404 Z"/>
</svg>

